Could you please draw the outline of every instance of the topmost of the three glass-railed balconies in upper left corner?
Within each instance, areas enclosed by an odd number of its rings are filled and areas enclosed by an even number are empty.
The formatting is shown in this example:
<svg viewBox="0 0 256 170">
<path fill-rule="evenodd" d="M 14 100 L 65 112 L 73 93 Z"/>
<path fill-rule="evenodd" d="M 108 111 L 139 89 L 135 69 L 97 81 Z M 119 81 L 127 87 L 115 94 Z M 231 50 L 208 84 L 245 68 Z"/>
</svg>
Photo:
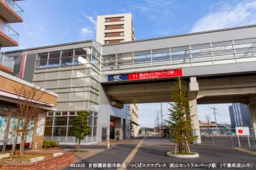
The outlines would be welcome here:
<svg viewBox="0 0 256 170">
<path fill-rule="evenodd" d="M 23 13 L 22 8 L 13 0 L 0 0 L 0 16 L 4 22 L 23 22 Z"/>
</svg>

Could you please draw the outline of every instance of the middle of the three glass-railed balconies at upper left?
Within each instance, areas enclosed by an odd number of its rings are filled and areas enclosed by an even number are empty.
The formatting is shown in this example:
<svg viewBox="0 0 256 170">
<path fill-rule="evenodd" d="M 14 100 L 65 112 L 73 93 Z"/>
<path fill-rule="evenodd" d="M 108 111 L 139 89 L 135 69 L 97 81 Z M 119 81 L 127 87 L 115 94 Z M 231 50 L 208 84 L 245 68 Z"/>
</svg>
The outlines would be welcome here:
<svg viewBox="0 0 256 170">
<path fill-rule="evenodd" d="M 18 46 L 18 42 L 19 34 L 0 20 L 0 48 Z"/>
</svg>

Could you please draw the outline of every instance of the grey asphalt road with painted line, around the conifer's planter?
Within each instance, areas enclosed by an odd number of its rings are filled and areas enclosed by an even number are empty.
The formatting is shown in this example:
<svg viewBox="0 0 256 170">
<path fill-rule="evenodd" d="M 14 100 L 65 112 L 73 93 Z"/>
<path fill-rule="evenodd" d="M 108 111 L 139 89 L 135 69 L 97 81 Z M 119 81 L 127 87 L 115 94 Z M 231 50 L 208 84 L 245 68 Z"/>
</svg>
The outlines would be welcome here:
<svg viewBox="0 0 256 170">
<path fill-rule="evenodd" d="M 180 159 L 166 156 L 168 151 L 174 151 L 174 143 L 170 142 L 169 139 L 159 136 L 147 136 L 140 147 L 138 148 L 137 146 L 136 149 L 138 149 L 138 151 L 135 151 L 136 145 L 138 145 L 142 139 L 143 137 L 138 137 L 136 139 L 129 139 L 124 143 L 121 142 L 120 144 L 114 145 L 112 148 L 100 152 L 100 154 L 82 160 L 80 163 L 85 163 L 85 167 L 87 168 L 89 168 L 90 165 L 91 167 L 98 165 L 100 168 L 97 169 L 104 169 L 102 167 L 104 165 L 106 166 L 107 163 L 112 163 L 113 165 L 116 165 L 114 163 L 127 163 L 125 161 L 127 161 L 126 159 L 129 156 L 128 161 L 130 163 L 126 164 L 128 169 L 136 169 L 138 167 L 164 169 L 165 166 L 170 169 L 170 167 L 177 164 L 182 164 L 183 168 L 180 169 L 208 169 L 208 166 L 212 167 L 215 163 L 217 163 L 217 167 L 220 167 L 220 163 L 222 163 L 222 167 L 225 167 L 223 169 L 228 169 L 228 164 L 229 166 L 231 166 L 231 164 L 240 166 L 237 164 L 251 163 L 251 165 L 253 165 L 252 169 L 256 169 L 255 148 L 235 149 L 222 146 L 209 147 L 205 145 L 192 145 L 190 147 L 191 151 L 197 152 L 200 157 Z M 197 165 L 197 167 L 188 168 L 188 165 Z M 186 168 L 184 166 L 186 166 Z M 113 169 L 117 168 L 114 167 Z"/>
</svg>

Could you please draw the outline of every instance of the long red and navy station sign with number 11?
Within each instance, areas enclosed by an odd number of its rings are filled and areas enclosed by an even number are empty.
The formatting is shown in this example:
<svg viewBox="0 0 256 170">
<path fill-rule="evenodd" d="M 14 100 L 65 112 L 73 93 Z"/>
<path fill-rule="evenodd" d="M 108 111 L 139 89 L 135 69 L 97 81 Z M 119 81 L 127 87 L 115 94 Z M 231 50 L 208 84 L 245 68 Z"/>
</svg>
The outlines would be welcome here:
<svg viewBox="0 0 256 170">
<path fill-rule="evenodd" d="M 124 75 L 109 75 L 108 81 L 132 81 L 143 79 L 155 79 L 155 78 L 171 78 L 182 76 L 182 69 L 163 70 L 156 72 L 138 72 Z"/>
</svg>

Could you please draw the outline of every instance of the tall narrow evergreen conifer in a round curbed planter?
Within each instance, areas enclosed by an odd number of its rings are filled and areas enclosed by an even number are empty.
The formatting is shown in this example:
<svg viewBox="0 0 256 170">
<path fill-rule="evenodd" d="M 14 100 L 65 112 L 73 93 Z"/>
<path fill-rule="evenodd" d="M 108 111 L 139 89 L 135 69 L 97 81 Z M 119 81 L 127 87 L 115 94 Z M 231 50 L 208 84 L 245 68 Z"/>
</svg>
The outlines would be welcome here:
<svg viewBox="0 0 256 170">
<path fill-rule="evenodd" d="M 183 86 L 183 81 L 177 78 L 174 91 L 171 92 L 171 108 L 168 109 L 168 127 L 170 135 L 174 137 L 174 154 L 190 154 L 189 142 L 196 136 L 192 136 L 192 116 L 190 116 L 189 98 L 187 90 Z M 178 148 L 178 151 L 177 151 Z"/>
</svg>

